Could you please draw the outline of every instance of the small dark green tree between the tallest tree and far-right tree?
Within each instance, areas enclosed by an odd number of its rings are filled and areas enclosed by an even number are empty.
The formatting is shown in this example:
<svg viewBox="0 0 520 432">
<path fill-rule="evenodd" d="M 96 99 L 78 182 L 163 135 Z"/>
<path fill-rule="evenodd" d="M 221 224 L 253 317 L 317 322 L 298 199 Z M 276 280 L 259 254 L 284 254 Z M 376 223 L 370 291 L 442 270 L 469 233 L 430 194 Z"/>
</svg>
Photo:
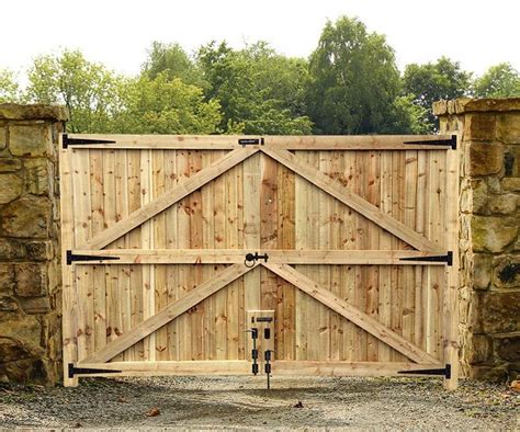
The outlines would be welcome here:
<svg viewBox="0 0 520 432">
<path fill-rule="evenodd" d="M 461 70 L 457 61 L 446 57 L 441 57 L 436 64 L 411 64 L 405 68 L 403 93 L 414 95 L 414 103 L 428 112 L 427 122 L 437 130 L 439 123 L 433 115 L 433 102 L 467 94 L 471 76 L 470 72 Z"/>
</svg>

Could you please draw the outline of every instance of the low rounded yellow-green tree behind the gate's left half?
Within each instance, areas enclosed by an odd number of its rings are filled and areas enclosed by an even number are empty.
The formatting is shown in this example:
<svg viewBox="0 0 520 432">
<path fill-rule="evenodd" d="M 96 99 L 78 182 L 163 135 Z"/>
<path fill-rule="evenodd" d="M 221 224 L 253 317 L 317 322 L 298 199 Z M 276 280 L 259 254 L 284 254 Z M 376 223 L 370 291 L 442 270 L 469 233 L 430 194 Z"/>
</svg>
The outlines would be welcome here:
<svg viewBox="0 0 520 432">
<path fill-rule="evenodd" d="M 214 134 L 222 120 L 217 101 L 205 102 L 202 89 L 165 72 L 128 81 L 122 101 L 113 124 L 118 133 Z"/>
</svg>

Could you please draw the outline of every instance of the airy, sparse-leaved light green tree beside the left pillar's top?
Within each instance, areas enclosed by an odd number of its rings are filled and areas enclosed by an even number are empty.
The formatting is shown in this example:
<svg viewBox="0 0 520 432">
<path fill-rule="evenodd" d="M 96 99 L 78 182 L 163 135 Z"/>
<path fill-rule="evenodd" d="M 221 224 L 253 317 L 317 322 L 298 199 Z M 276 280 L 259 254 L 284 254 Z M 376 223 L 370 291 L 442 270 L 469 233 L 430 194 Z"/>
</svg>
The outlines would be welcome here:
<svg viewBox="0 0 520 432">
<path fill-rule="evenodd" d="M 30 101 L 67 106 L 69 130 L 111 132 L 111 122 L 121 109 L 124 79 L 88 61 L 79 50 L 37 57 L 29 71 L 29 82 Z"/>
</svg>

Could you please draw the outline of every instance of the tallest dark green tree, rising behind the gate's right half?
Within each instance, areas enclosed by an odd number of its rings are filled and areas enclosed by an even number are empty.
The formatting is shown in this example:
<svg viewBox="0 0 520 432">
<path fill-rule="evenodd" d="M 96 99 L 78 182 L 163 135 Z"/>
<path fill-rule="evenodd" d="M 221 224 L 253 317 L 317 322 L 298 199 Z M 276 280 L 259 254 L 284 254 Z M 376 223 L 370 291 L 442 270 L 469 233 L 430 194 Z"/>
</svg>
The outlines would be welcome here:
<svg viewBox="0 0 520 432">
<path fill-rule="evenodd" d="M 370 134 L 392 129 L 388 113 L 399 72 L 385 37 L 357 19 L 327 22 L 310 55 L 308 107 L 316 132 Z"/>
</svg>

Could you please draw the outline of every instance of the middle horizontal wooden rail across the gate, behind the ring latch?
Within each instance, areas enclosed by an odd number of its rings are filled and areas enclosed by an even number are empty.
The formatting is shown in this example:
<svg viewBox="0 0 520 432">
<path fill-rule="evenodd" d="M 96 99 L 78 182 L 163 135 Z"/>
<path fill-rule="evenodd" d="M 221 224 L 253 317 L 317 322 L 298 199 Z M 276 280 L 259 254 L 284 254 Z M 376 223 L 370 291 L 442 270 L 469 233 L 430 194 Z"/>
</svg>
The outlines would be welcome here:
<svg viewBox="0 0 520 432">
<path fill-rule="evenodd" d="M 76 264 L 236 264 L 249 252 L 268 254 L 275 264 L 444 265 L 443 262 L 402 261 L 432 255 L 415 250 L 285 250 L 285 249 L 103 249 L 74 250 L 74 254 L 99 257 Z M 108 257 L 103 260 L 102 257 Z M 109 258 L 117 258 L 116 260 Z"/>
</svg>

